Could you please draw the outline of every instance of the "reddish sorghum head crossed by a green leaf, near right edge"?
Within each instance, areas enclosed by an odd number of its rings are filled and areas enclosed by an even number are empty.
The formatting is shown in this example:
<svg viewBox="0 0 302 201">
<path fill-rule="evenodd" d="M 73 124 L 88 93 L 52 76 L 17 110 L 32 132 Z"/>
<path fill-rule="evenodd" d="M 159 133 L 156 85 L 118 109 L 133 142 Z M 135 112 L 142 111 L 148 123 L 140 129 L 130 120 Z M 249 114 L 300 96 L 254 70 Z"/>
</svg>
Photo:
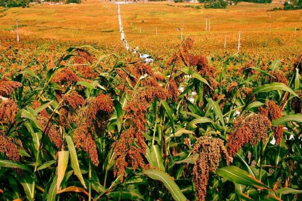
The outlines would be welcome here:
<svg viewBox="0 0 302 201">
<path fill-rule="evenodd" d="M 282 117 L 282 111 L 279 106 L 274 102 L 274 100 L 267 100 L 265 105 L 266 108 L 259 108 L 259 112 L 267 116 L 270 121 Z M 273 126 L 272 130 L 274 131 L 274 137 L 276 139 L 277 144 L 280 144 L 283 138 L 283 126 Z"/>
</svg>

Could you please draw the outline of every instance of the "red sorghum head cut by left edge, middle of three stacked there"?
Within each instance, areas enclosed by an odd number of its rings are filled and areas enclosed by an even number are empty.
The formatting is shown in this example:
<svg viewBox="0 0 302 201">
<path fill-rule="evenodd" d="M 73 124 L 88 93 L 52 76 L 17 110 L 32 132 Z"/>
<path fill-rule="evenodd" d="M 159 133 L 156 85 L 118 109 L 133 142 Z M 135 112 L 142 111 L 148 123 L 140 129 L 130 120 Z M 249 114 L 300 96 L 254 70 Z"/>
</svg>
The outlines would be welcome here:
<svg viewBox="0 0 302 201">
<path fill-rule="evenodd" d="M 4 100 L 0 104 L 0 123 L 3 121 L 14 122 L 17 112 L 18 106 L 13 99 Z"/>
</svg>

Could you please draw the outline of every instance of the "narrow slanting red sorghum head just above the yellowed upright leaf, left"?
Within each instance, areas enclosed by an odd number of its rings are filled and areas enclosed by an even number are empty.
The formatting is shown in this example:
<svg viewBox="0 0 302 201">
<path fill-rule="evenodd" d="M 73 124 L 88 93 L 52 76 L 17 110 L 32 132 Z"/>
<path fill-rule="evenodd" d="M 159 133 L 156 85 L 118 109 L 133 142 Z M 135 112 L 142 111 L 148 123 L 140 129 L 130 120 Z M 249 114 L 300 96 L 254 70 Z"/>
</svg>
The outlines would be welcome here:
<svg viewBox="0 0 302 201">
<path fill-rule="evenodd" d="M 45 134 L 48 135 L 50 141 L 56 146 L 56 148 L 60 148 L 63 144 L 63 140 L 59 132 L 56 130 L 56 127 L 50 122 L 47 125 L 48 118 L 39 116 L 37 120 L 42 127 L 42 131 L 45 131 Z"/>
</svg>

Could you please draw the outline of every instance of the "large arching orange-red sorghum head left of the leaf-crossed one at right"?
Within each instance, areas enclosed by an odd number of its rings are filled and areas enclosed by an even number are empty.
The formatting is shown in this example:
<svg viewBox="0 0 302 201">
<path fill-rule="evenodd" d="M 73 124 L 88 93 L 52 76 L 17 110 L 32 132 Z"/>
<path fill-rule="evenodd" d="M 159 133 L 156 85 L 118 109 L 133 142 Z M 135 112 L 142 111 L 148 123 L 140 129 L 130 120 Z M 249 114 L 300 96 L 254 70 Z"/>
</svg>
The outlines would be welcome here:
<svg viewBox="0 0 302 201">
<path fill-rule="evenodd" d="M 262 114 L 251 113 L 240 116 L 234 123 L 234 131 L 228 139 L 228 153 L 235 156 L 244 144 L 255 145 L 260 140 L 265 140 L 269 128 L 271 123 Z"/>
</svg>

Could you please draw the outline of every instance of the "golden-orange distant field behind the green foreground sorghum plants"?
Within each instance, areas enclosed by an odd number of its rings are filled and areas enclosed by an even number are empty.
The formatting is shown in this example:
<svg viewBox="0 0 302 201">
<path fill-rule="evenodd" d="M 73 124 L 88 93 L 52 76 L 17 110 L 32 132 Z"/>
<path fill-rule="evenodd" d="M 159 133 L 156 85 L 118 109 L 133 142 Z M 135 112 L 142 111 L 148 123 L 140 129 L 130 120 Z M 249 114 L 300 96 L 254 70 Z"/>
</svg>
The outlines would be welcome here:
<svg viewBox="0 0 302 201">
<path fill-rule="evenodd" d="M 186 5 L 201 9 L 184 8 Z M 290 60 L 302 49 L 302 13 L 267 12 L 274 7 L 282 5 L 240 3 L 223 10 L 204 9 L 200 4 L 138 3 L 121 5 L 121 16 L 130 46 L 139 47 L 140 51 L 154 57 L 168 57 L 179 44 L 182 29 L 183 38 L 194 39 L 196 53 L 212 56 L 235 53 L 241 32 L 241 53 L 267 60 Z M 95 43 L 114 52 L 124 50 L 115 4 L 88 0 L 80 5 L 44 4 L 27 9 L 2 9 L 1 12 L 1 36 L 16 37 L 12 30 L 15 31 L 18 18 L 21 41 L 51 39 Z M 211 16 L 210 32 L 205 32 L 206 16 Z"/>
</svg>

